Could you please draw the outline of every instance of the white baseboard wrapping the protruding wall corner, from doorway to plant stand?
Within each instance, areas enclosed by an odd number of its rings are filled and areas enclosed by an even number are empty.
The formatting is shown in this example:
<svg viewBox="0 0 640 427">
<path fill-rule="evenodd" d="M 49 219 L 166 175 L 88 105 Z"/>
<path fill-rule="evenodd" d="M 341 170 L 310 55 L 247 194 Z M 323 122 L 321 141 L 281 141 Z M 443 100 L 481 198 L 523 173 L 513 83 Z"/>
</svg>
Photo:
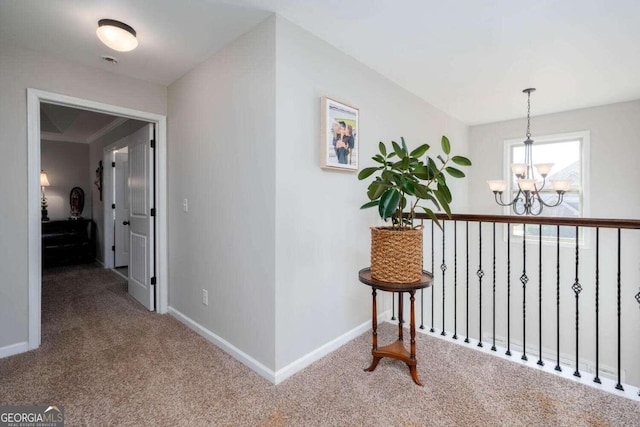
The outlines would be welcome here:
<svg viewBox="0 0 640 427">
<path fill-rule="evenodd" d="M 229 354 L 231 357 L 236 359 L 238 362 L 247 366 L 249 369 L 256 372 L 261 377 L 265 378 L 267 381 L 272 384 L 279 384 L 282 381 L 286 380 L 290 376 L 294 375 L 297 372 L 300 372 L 307 366 L 311 365 L 313 362 L 320 360 L 327 354 L 335 351 L 336 349 L 342 347 L 344 344 L 353 340 L 354 338 L 362 335 L 366 331 L 371 328 L 371 321 L 366 321 L 361 325 L 356 326 L 350 331 L 340 335 L 339 337 L 329 341 L 328 343 L 318 347 L 310 353 L 302 356 L 301 358 L 293 361 L 282 369 L 279 369 L 277 372 L 274 372 L 272 369 L 269 369 L 262 363 L 258 362 L 253 357 L 249 356 L 247 353 L 243 352 L 239 348 L 235 347 L 233 344 L 228 342 L 227 340 L 221 338 L 220 336 L 214 334 L 204 326 L 185 316 L 178 310 L 173 307 L 169 307 L 169 314 L 175 317 L 178 321 L 183 323 L 189 329 L 192 329 L 198 335 L 204 337 L 208 341 L 212 342 L 214 345 L 222 349 L 224 352 Z M 391 318 L 391 312 L 385 311 L 378 315 L 378 323 L 382 323 Z"/>
</svg>

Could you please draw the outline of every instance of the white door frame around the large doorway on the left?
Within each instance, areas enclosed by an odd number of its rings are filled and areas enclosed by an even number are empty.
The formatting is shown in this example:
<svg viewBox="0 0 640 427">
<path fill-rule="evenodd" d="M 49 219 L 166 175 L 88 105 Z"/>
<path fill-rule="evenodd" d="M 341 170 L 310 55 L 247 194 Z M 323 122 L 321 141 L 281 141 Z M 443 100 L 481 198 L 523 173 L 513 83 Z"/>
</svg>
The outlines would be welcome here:
<svg viewBox="0 0 640 427">
<path fill-rule="evenodd" d="M 156 125 L 156 310 L 168 306 L 167 242 L 167 117 L 112 104 L 27 88 L 27 185 L 29 252 L 29 350 L 40 347 L 42 317 L 42 225 L 40 217 L 40 103 L 62 105 L 114 116 L 143 120 Z"/>
</svg>

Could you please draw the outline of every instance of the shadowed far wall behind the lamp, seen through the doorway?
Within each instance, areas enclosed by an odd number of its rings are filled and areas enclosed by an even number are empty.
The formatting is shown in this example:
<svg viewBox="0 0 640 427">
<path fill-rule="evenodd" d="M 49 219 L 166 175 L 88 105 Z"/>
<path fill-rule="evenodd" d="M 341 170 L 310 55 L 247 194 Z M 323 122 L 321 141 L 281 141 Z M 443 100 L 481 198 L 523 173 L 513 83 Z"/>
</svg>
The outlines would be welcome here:
<svg viewBox="0 0 640 427">
<path fill-rule="evenodd" d="M 89 181 L 89 145 L 73 142 L 42 141 L 40 165 L 47 173 L 46 188 L 49 219 L 64 220 L 71 215 L 69 193 L 73 187 L 84 191 L 81 216 L 91 219 L 91 181 Z"/>
</svg>

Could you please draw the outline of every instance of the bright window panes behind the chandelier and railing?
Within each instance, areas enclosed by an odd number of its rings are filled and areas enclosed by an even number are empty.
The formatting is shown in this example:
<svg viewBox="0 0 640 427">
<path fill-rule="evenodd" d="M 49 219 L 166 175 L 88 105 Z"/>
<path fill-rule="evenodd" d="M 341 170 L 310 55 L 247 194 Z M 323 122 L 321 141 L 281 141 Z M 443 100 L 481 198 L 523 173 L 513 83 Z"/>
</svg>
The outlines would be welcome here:
<svg viewBox="0 0 640 427">
<path fill-rule="evenodd" d="M 576 218 L 587 216 L 588 205 L 585 200 L 587 195 L 587 174 L 589 132 L 574 132 L 560 135 L 535 136 L 532 146 L 533 163 L 553 163 L 551 171 L 547 175 L 545 185 L 540 191 L 542 199 L 548 204 L 555 204 L 558 194 L 551 186 L 552 180 L 567 180 L 571 182 L 571 188 L 564 194 L 562 203 L 555 207 L 544 207 L 542 216 Z M 524 163 L 525 148 L 522 139 L 505 141 L 505 175 L 508 176 L 508 191 L 513 200 L 518 192 L 516 178 L 511 173 L 512 163 Z M 534 171 L 534 179 L 538 186 L 542 183 L 542 177 Z M 511 207 L 505 208 L 505 214 L 513 214 Z M 527 225 L 527 236 L 537 238 L 538 226 Z M 513 236 L 522 236 L 523 226 L 512 227 Z M 543 226 L 543 239 L 555 241 L 556 227 Z M 575 238 L 575 229 L 561 227 L 560 237 L 563 240 Z M 581 241 L 583 241 L 581 236 Z"/>
</svg>

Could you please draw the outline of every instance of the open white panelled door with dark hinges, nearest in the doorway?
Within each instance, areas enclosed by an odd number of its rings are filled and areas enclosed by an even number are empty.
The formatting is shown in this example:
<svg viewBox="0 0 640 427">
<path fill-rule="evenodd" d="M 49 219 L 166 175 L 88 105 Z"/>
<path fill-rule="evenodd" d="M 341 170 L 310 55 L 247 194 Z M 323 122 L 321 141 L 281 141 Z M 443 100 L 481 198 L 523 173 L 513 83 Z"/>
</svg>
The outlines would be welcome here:
<svg viewBox="0 0 640 427">
<path fill-rule="evenodd" d="M 149 124 L 130 136 L 129 144 L 129 294 L 154 310 L 153 153 Z"/>
</svg>

